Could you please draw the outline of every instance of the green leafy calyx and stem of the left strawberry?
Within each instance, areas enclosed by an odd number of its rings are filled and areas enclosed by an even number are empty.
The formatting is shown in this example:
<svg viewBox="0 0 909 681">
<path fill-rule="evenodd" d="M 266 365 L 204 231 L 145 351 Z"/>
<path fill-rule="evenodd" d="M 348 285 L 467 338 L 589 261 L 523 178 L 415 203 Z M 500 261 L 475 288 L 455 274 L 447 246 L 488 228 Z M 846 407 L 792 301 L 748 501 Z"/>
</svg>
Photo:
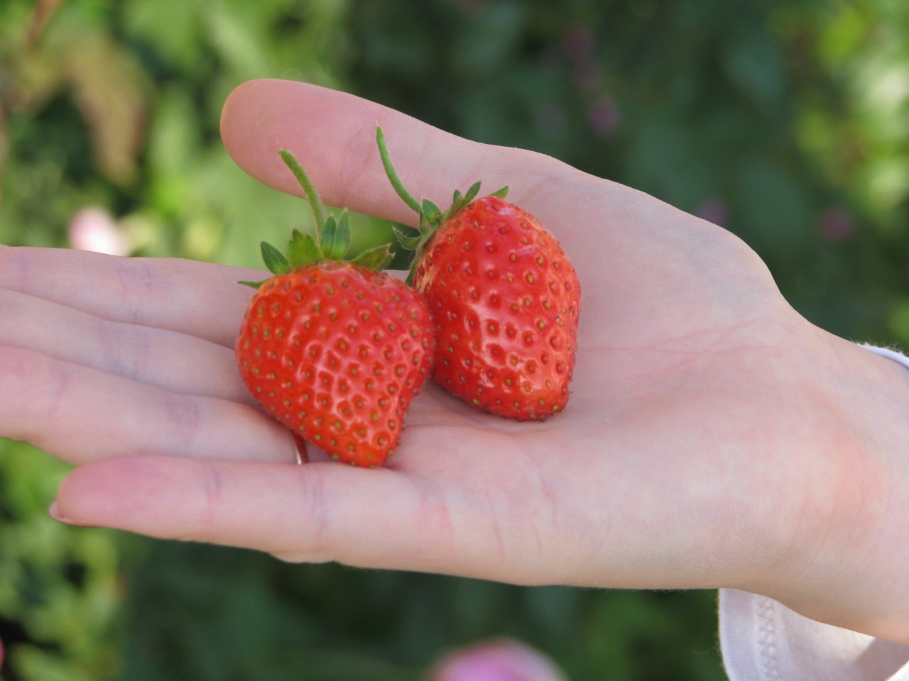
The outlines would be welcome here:
<svg viewBox="0 0 909 681">
<path fill-rule="evenodd" d="M 262 260 L 265 262 L 265 267 L 273 274 L 281 275 L 314 262 L 341 261 L 351 262 L 368 270 L 385 270 L 394 257 L 391 245 L 384 243 L 361 252 L 354 258 L 346 258 L 347 252 L 350 250 L 350 213 L 345 209 L 335 217 L 327 212 L 325 203 L 322 202 L 319 193 L 315 191 L 315 185 L 294 154 L 285 149 L 278 150 L 278 153 L 291 173 L 294 173 L 297 183 L 303 190 L 313 213 L 315 231 L 303 233 L 295 229 L 287 244 L 286 254 L 272 244 L 262 242 Z M 240 283 L 258 289 L 265 281 L 240 281 Z"/>
</svg>

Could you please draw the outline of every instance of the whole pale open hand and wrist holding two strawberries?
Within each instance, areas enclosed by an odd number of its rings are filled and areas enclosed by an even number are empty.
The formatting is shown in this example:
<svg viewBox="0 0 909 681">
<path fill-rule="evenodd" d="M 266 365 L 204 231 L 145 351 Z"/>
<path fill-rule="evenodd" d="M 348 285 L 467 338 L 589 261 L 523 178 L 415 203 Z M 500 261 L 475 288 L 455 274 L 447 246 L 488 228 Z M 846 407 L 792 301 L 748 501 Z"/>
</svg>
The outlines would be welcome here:
<svg viewBox="0 0 909 681">
<path fill-rule="evenodd" d="M 282 81 L 240 86 L 222 133 L 264 183 L 298 192 L 283 147 L 329 205 L 413 223 L 376 124 L 417 197 L 508 184 L 562 243 L 584 291 L 564 413 L 427 384 L 385 467 L 296 466 L 235 369 L 254 273 L 2 247 L 0 434 L 75 464 L 55 517 L 290 561 L 737 587 L 909 644 L 909 371 L 805 321 L 729 232 L 551 158 Z"/>
</svg>

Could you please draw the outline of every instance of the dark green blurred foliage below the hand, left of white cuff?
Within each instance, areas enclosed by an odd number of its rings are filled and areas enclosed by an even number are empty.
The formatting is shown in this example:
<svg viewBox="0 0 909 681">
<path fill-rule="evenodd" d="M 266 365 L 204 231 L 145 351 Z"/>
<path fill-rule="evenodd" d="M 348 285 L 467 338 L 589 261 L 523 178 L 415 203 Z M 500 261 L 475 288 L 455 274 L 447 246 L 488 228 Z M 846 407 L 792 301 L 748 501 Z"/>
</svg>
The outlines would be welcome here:
<svg viewBox="0 0 909 681">
<path fill-rule="evenodd" d="M 421 681 L 445 653 L 500 636 L 538 646 L 573 681 L 723 678 L 706 593 L 507 587 L 174 544 L 127 579 L 130 681 Z"/>
</svg>

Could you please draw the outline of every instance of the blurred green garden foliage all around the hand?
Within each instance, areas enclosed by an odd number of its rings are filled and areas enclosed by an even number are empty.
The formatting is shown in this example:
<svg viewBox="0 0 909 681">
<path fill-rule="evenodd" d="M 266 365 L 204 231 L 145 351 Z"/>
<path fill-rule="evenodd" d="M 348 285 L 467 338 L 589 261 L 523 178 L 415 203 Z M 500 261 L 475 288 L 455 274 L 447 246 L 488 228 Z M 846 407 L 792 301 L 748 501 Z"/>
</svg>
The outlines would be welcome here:
<svg viewBox="0 0 909 681">
<path fill-rule="evenodd" d="M 305 225 L 218 137 L 251 78 L 325 84 L 739 234 L 794 307 L 909 346 L 904 0 L 0 0 L 0 242 L 257 266 Z M 357 218 L 356 248 L 388 225 Z M 0 440 L 6 681 L 417 681 L 511 636 L 572 681 L 718 681 L 715 594 L 289 566 L 65 528 Z"/>
</svg>

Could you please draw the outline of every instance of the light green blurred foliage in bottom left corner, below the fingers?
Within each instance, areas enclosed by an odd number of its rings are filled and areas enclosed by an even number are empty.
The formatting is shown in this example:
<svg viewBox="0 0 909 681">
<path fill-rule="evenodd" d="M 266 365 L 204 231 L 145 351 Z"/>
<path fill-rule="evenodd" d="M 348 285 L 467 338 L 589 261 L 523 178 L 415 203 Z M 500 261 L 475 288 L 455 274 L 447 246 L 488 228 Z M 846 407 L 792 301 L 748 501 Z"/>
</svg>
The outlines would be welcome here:
<svg viewBox="0 0 909 681">
<path fill-rule="evenodd" d="M 99 681 L 119 666 L 124 596 L 109 532 L 69 532 L 47 517 L 65 466 L 4 443 L 0 465 L 0 638 L 7 681 Z"/>
</svg>

